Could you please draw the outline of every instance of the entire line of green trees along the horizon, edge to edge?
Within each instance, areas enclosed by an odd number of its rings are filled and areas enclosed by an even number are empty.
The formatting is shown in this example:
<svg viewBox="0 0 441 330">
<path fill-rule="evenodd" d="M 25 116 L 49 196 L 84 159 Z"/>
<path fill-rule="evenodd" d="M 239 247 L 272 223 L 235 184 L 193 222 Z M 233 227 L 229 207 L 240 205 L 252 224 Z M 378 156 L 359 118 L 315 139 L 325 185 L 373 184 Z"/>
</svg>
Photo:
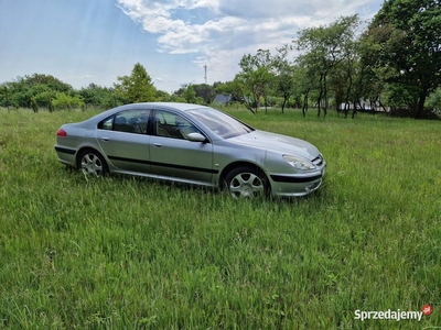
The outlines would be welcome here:
<svg viewBox="0 0 441 330">
<path fill-rule="evenodd" d="M 265 107 L 330 109 L 354 117 L 359 109 L 423 118 L 441 109 L 441 6 L 439 0 L 387 0 L 363 28 L 357 15 L 301 30 L 271 54 L 245 54 L 230 81 L 158 90 L 137 63 L 112 87 L 75 90 L 55 77 L 34 74 L 0 85 L 0 107 L 37 111 L 140 101 L 208 105 L 217 94 L 256 113 Z M 430 112 L 429 114 L 431 114 Z"/>
</svg>

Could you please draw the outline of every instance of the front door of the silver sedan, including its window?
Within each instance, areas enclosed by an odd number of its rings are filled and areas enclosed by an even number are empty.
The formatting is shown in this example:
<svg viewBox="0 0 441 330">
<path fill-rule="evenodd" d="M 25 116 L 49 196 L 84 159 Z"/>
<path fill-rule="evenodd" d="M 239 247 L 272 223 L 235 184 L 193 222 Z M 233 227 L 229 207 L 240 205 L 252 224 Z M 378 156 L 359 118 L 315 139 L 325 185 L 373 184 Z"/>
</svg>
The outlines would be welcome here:
<svg viewBox="0 0 441 330">
<path fill-rule="evenodd" d="M 165 110 L 155 110 L 150 138 L 152 174 L 169 178 L 212 183 L 213 144 L 192 142 L 186 135 L 200 132 L 189 120 Z"/>
</svg>

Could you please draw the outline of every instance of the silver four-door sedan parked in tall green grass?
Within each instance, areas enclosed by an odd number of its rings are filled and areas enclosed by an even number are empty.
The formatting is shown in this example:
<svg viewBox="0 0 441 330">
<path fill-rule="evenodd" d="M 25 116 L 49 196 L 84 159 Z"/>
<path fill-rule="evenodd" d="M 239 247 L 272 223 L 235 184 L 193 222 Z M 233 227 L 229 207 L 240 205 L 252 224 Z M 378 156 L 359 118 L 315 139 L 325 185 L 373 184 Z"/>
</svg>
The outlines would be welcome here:
<svg viewBox="0 0 441 330">
<path fill-rule="evenodd" d="M 308 195 L 321 186 L 326 167 L 303 140 L 197 105 L 126 105 L 66 123 L 56 135 L 58 161 L 87 174 L 226 187 L 236 199 Z"/>
</svg>

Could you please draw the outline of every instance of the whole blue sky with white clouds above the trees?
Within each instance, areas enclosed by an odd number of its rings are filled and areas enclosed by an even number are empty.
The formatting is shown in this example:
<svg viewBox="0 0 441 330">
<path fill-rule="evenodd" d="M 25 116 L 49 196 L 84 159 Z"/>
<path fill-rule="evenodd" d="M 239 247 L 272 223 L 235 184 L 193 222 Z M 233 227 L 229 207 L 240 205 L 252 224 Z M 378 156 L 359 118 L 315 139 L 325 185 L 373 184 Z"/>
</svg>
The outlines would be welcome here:
<svg viewBox="0 0 441 330">
<path fill-rule="evenodd" d="M 383 0 L 0 0 L 0 84 L 52 75 L 111 87 L 140 63 L 158 89 L 233 80 L 239 61 Z M 205 77 L 204 66 L 207 66 Z"/>
</svg>

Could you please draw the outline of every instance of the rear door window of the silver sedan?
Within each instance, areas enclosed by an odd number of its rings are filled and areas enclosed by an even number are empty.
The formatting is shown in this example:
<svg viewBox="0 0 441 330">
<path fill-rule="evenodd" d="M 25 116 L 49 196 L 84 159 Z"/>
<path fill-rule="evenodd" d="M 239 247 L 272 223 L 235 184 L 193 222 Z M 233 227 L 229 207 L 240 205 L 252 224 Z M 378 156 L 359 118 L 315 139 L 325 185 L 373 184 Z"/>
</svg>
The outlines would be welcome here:
<svg viewBox="0 0 441 330">
<path fill-rule="evenodd" d="M 98 129 L 146 134 L 149 125 L 149 117 L 150 110 L 122 111 L 101 121 L 98 124 Z"/>
</svg>

